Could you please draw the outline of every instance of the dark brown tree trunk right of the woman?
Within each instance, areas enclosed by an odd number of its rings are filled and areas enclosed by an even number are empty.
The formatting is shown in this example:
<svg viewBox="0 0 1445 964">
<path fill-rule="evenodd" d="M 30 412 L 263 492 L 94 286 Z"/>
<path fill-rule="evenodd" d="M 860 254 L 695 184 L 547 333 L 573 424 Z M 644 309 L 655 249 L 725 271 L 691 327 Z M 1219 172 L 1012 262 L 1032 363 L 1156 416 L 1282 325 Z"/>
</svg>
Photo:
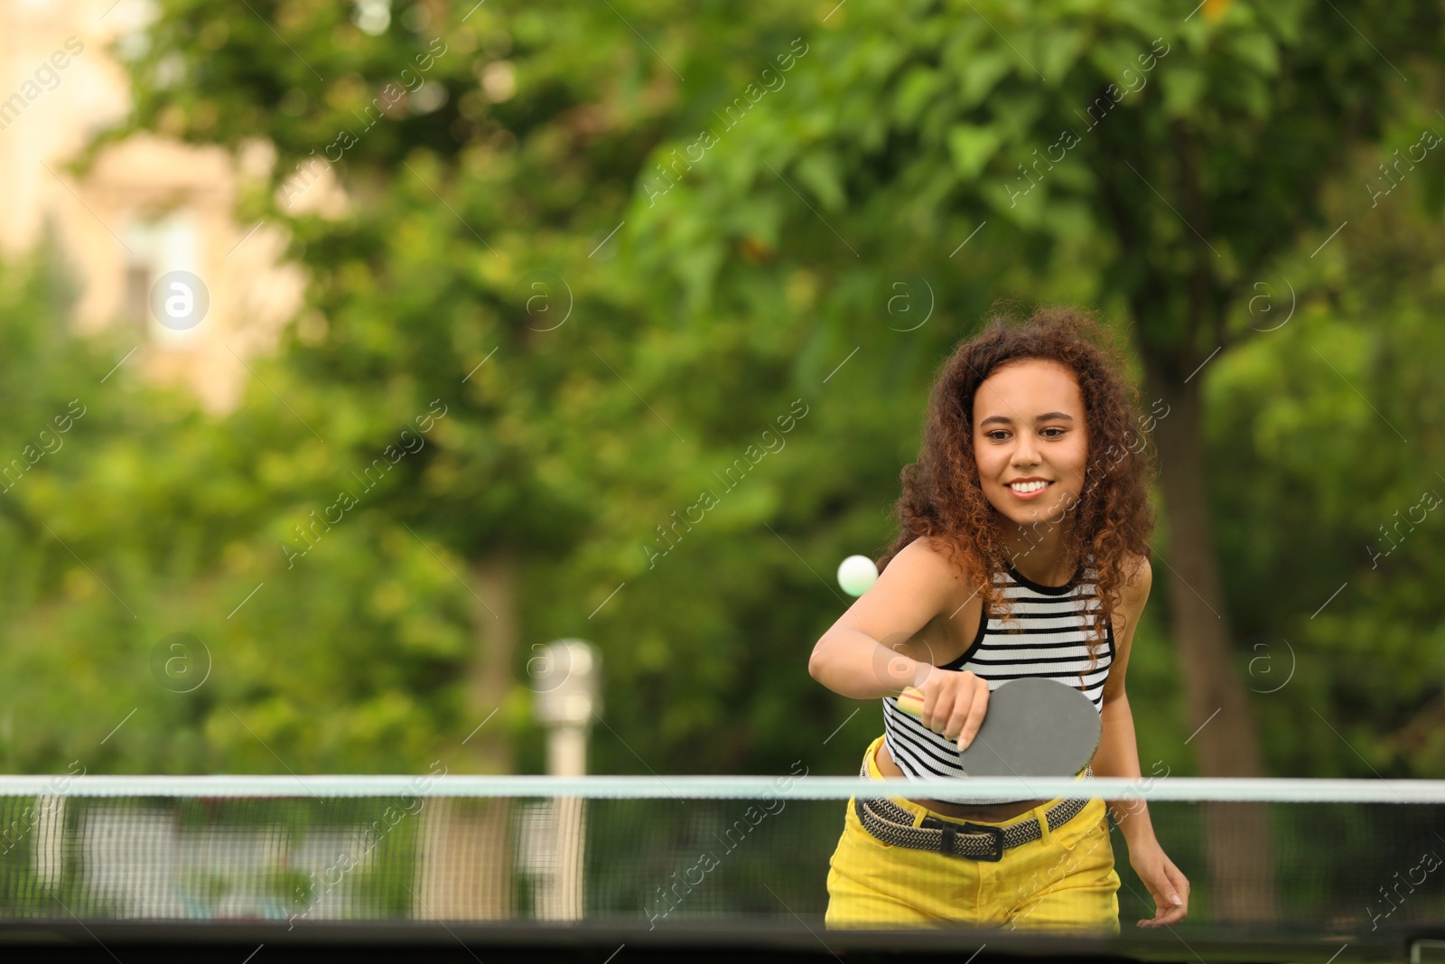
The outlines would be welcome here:
<svg viewBox="0 0 1445 964">
<path fill-rule="evenodd" d="M 1144 353 L 1150 399 L 1169 408 L 1157 422 L 1165 567 L 1175 645 L 1183 672 L 1189 743 L 1205 776 L 1263 776 L 1259 730 L 1244 684 L 1231 665 L 1231 632 L 1209 538 L 1204 410 L 1199 382 Z M 1192 366 L 1191 366 L 1192 367 Z M 1220 922 L 1274 919 L 1274 867 L 1266 804 L 1207 804 L 1209 880 Z"/>
</svg>

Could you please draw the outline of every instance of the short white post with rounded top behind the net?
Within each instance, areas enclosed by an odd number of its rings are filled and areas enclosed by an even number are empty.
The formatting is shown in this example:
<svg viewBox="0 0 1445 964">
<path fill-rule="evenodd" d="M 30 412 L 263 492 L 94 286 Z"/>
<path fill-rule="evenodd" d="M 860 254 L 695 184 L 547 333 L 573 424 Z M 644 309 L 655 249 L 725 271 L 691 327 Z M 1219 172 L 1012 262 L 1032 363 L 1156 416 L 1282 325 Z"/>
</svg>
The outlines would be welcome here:
<svg viewBox="0 0 1445 964">
<path fill-rule="evenodd" d="M 548 773 L 587 775 L 587 736 L 592 714 L 601 714 L 598 676 L 601 660 L 588 643 L 559 639 L 540 647 L 527 665 L 538 723 L 548 730 Z M 585 812 L 577 796 L 549 801 L 542 840 L 552 847 L 546 883 L 539 887 L 538 916 L 545 921 L 579 921 L 585 913 L 584 861 Z M 539 828 L 542 830 L 542 828 Z"/>
</svg>

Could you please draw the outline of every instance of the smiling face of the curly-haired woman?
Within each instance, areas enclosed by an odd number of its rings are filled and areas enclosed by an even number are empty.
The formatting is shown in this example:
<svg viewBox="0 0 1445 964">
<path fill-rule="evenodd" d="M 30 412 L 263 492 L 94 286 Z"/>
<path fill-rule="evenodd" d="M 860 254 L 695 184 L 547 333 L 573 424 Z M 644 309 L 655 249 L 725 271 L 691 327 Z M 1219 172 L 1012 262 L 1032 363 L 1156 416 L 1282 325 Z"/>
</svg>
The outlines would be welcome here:
<svg viewBox="0 0 1445 964">
<path fill-rule="evenodd" d="M 1058 520 L 1078 503 L 1088 462 L 1084 395 L 1074 373 L 1056 361 L 1012 361 L 974 395 L 974 457 L 984 496 L 1006 519 L 1030 526 Z M 1027 478 L 1038 490 L 1010 487 Z M 1058 545 L 1058 532 L 1045 533 Z"/>
</svg>

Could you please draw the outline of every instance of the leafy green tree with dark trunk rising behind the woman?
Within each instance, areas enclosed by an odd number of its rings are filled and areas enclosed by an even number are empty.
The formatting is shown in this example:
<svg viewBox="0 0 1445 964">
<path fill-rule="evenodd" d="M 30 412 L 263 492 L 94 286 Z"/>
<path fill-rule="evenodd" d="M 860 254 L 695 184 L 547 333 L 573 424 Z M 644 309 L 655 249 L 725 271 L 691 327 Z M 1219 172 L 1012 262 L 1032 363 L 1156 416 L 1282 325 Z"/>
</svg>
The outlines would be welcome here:
<svg viewBox="0 0 1445 964">
<path fill-rule="evenodd" d="M 1155 429 L 1160 574 L 1199 767 L 1257 776 L 1204 484 L 1205 366 L 1261 337 L 1251 309 L 1283 296 L 1283 263 L 1341 230 L 1325 220 L 1324 186 L 1387 126 L 1423 114 L 1415 91 L 1435 77 L 1441 13 L 1195 13 L 1146 1 L 838 7 L 809 38 L 789 97 L 725 139 L 640 237 L 695 304 L 756 288 L 730 256 L 737 243 L 776 250 L 777 273 L 818 270 L 838 299 L 870 277 L 946 275 L 961 251 L 970 273 L 1025 267 L 1040 301 L 1077 266 L 1075 296 L 1129 319 L 1146 397 L 1166 412 Z M 1410 176 L 1438 185 L 1439 171 Z M 1274 292 L 1263 302 L 1261 288 Z M 855 330 L 842 311 L 821 314 L 832 331 L 819 338 Z M 1263 880 L 1246 864 L 1266 853 L 1266 832 L 1244 821 L 1238 847 L 1211 850 L 1231 916 L 1270 913 L 1267 887 L 1235 886 Z"/>
</svg>

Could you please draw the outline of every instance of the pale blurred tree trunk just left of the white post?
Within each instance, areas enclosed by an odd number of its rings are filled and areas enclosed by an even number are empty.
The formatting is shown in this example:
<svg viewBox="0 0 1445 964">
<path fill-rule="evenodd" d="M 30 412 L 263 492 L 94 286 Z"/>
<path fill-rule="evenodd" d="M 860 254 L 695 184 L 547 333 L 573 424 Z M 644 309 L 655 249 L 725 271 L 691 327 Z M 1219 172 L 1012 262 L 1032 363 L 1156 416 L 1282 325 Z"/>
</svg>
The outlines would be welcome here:
<svg viewBox="0 0 1445 964">
<path fill-rule="evenodd" d="M 510 773 L 512 746 L 493 715 L 512 687 L 520 639 L 516 562 L 506 554 L 471 569 L 477 650 L 467 675 L 468 736 L 449 773 Z M 474 721 L 474 723 L 473 723 Z M 486 721 L 486 723 L 484 723 Z M 480 728 L 473 730 L 483 724 Z M 513 802 L 434 798 L 422 818 L 422 863 L 413 916 L 509 919 L 513 906 Z"/>
</svg>

